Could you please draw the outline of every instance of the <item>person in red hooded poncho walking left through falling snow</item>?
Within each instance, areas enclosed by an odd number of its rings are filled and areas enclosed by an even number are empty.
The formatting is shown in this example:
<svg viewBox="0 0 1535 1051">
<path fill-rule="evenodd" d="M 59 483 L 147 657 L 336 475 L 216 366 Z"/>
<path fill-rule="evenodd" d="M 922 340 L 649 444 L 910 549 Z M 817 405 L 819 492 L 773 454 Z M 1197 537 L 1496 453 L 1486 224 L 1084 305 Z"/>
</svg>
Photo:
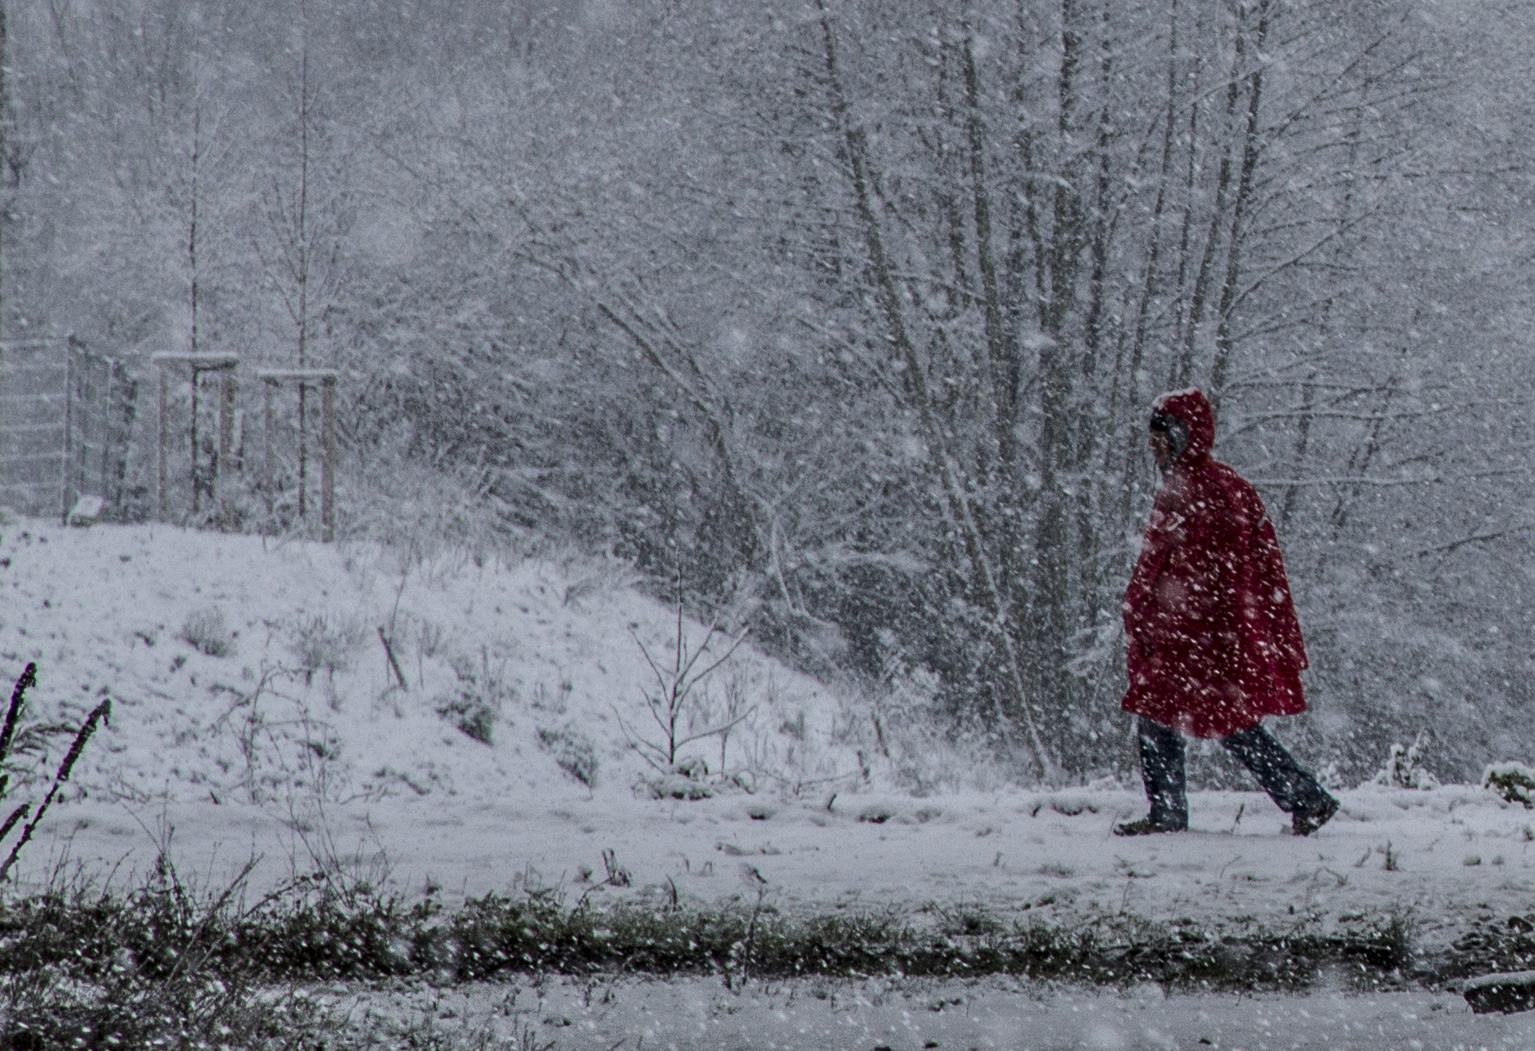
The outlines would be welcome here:
<svg viewBox="0 0 1535 1051">
<path fill-rule="evenodd" d="M 1216 738 L 1253 772 L 1296 835 L 1320 829 L 1339 802 L 1263 729 L 1265 715 L 1306 709 L 1306 647 L 1274 526 L 1257 491 L 1211 459 L 1216 416 L 1199 390 L 1151 408 L 1162 488 L 1125 591 L 1130 692 L 1141 776 L 1151 812 L 1121 836 L 1188 827 L 1183 735 Z"/>
</svg>

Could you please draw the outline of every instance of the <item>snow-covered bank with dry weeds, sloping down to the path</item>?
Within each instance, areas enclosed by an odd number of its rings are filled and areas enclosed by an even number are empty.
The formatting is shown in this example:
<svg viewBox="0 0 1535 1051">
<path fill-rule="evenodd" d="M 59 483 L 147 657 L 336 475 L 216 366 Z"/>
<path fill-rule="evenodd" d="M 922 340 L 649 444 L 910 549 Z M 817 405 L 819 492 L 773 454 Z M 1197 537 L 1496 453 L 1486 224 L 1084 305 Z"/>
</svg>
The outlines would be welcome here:
<svg viewBox="0 0 1535 1051">
<path fill-rule="evenodd" d="M 35 520 L 5 529 L 0 558 L 0 657 L 15 674 L 35 660 L 38 701 L 64 713 L 111 694 L 117 718 L 81 781 L 138 804 L 588 798 L 576 775 L 628 796 L 649 770 L 628 740 L 663 736 L 645 697 L 672 678 L 675 611 L 617 565 Z M 683 632 L 700 649 L 706 628 Z M 729 646 L 715 634 L 691 678 Z M 695 697 L 682 736 L 729 721 L 732 701 L 754 709 L 728 736 L 731 770 L 858 772 L 852 752 L 821 747 L 829 694 L 746 647 Z M 720 752 L 709 736 L 677 758 L 717 770 Z"/>
</svg>

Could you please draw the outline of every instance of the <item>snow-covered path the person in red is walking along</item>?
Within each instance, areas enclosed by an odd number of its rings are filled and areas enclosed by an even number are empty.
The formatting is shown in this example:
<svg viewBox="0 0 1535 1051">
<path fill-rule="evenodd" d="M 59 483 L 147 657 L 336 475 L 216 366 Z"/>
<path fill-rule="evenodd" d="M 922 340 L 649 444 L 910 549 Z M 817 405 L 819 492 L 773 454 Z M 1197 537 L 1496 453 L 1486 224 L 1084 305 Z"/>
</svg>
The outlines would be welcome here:
<svg viewBox="0 0 1535 1051">
<path fill-rule="evenodd" d="M 375 879 L 387 870 L 407 893 L 428 879 L 450 898 L 533 882 L 563 887 L 574 899 L 589 887 L 583 868 L 602 882 L 611 850 L 632 885 L 600 888 L 599 901 L 669 895 L 669 879 L 701 902 L 755 896 L 766 881 L 786 907 L 982 904 L 1058 921 L 1124 911 L 1203 925 L 1249 918 L 1283 928 L 1303 918 L 1331 925 L 1398 913 L 1424 945 L 1452 941 L 1477 916 L 1535 908 L 1529 816 L 1471 787 L 1345 792 L 1343 813 L 1311 839 L 1285 835 L 1283 816 L 1262 795 L 1236 792 L 1196 793 L 1194 832 L 1141 839 L 1110 835 L 1117 816 L 1141 806 L 1113 790 L 852 795 L 830 813 L 744 795 L 692 802 L 550 795 L 540 804 L 428 796 L 301 806 L 292 815 L 275 806 L 91 798 L 58 812 L 28 871 L 40 878 L 66 838 L 91 868 L 126 858 L 127 868 L 144 871 L 158 835 L 146 827 L 169 822 L 173 856 L 200 882 L 218 882 L 252 853 L 264 856 L 258 884 L 276 882 L 295 858 L 307 870 L 313 852 Z M 1239 807 L 1243 819 L 1233 830 Z M 860 819 L 880 815 L 889 816 Z"/>
</svg>

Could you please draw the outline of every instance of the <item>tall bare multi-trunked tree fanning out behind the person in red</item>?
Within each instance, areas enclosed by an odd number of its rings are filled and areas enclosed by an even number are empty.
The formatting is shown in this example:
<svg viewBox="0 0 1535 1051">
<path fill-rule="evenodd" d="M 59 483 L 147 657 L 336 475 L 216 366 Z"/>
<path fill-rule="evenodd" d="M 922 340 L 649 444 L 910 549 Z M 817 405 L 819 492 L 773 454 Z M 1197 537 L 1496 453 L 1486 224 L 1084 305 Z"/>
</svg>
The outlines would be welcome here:
<svg viewBox="0 0 1535 1051">
<path fill-rule="evenodd" d="M 953 569 L 930 594 L 973 611 L 979 712 L 1018 729 L 1038 773 L 1067 753 L 1081 769 L 1101 753 L 1082 738 L 1116 747 L 1094 647 L 1145 483 L 1144 374 L 1220 399 L 1243 347 L 1320 322 L 1319 267 L 1380 215 L 1355 201 L 1339 222 L 1323 126 L 1343 98 L 1378 104 L 1391 60 L 1380 34 L 1266 0 L 818 12 L 801 97 L 835 140 L 807 146 L 844 176 L 841 273 L 861 290 L 844 302 L 878 338 L 832 316 L 898 377 L 926 450 Z"/>
</svg>

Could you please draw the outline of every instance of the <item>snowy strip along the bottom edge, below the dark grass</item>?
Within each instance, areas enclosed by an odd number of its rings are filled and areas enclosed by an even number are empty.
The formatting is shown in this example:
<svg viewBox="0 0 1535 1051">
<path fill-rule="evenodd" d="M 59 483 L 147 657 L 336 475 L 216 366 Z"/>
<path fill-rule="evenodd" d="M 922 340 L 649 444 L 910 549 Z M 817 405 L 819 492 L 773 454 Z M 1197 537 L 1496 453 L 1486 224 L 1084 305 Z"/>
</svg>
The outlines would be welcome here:
<svg viewBox="0 0 1535 1051">
<path fill-rule="evenodd" d="M 1535 1013 L 1474 1016 L 1455 996 L 1164 996 L 985 982 L 748 985 L 548 982 L 330 996 L 378 1034 L 488 1034 L 559 1051 L 1434 1051 L 1527 1049 Z M 533 1046 L 531 1042 L 513 1046 Z"/>
</svg>

